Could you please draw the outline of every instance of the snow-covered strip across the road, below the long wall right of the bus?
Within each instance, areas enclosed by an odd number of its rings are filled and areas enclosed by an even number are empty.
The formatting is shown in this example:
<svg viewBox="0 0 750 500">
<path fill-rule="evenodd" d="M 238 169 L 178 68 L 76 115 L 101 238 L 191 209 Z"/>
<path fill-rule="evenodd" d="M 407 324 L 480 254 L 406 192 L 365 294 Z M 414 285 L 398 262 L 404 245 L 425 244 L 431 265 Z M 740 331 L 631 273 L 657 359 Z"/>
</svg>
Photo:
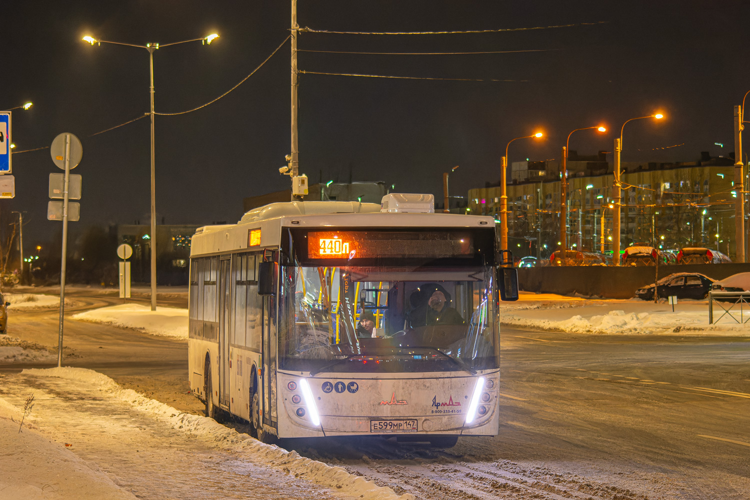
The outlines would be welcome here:
<svg viewBox="0 0 750 500">
<path fill-rule="evenodd" d="M 740 324 L 739 310 L 732 319 L 714 306 L 713 325 L 709 325 L 708 301 L 664 302 L 630 299 L 627 301 L 590 301 L 560 295 L 524 293 L 515 303 L 502 303 L 503 325 L 575 334 L 694 334 L 750 336 L 750 323 Z M 744 320 L 748 319 L 748 311 Z"/>
</svg>

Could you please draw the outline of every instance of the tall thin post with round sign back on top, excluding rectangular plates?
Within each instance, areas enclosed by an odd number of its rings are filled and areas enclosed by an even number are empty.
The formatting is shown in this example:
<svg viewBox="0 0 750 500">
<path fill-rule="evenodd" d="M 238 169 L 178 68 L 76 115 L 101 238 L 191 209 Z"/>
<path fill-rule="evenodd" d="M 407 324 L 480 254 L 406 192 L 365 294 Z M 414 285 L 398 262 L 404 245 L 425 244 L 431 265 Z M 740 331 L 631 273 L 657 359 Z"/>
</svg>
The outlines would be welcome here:
<svg viewBox="0 0 750 500">
<path fill-rule="evenodd" d="M 62 259 L 60 262 L 60 334 L 58 337 L 57 366 L 62 367 L 62 325 L 65 314 L 65 261 L 68 259 L 68 190 L 71 184 L 71 169 L 76 168 L 83 157 L 83 148 L 78 137 L 72 133 L 61 133 L 49 147 L 52 162 L 65 170 L 62 192 Z M 47 216 L 49 218 L 49 214 Z M 54 220 L 54 219 L 52 219 Z"/>
</svg>

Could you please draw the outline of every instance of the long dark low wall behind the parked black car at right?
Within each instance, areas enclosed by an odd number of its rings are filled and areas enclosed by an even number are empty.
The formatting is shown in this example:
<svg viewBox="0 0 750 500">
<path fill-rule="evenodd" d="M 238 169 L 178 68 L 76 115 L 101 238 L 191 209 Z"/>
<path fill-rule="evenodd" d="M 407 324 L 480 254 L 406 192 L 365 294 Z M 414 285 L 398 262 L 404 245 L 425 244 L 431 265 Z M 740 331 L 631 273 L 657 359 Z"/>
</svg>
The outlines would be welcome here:
<svg viewBox="0 0 750 500">
<path fill-rule="evenodd" d="M 736 273 L 750 272 L 750 264 L 660 265 L 659 279 L 672 273 L 701 273 L 723 280 Z M 656 268 L 603 265 L 518 268 L 518 286 L 526 292 L 582 295 L 583 297 L 631 298 L 641 286 L 654 283 Z"/>
</svg>

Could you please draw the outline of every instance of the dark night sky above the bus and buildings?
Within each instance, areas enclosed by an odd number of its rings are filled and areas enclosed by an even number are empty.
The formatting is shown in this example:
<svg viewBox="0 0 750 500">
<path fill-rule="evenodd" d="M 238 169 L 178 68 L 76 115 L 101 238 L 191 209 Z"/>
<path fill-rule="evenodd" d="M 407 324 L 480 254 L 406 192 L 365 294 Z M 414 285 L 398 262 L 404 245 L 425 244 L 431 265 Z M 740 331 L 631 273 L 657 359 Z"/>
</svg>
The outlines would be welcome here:
<svg viewBox="0 0 750 500">
<path fill-rule="evenodd" d="M 232 88 L 289 34 L 290 2 L 6 1 L 0 17 L 0 109 L 13 112 L 16 151 L 71 132 L 83 142 L 81 221 L 148 223 L 148 52 L 102 40 L 170 43 L 220 34 L 154 53 L 157 112 L 192 109 Z M 700 151 L 733 151 L 733 106 L 750 90 L 746 1 L 311 1 L 299 25 L 331 31 L 456 31 L 576 25 L 488 34 L 359 35 L 302 33 L 301 50 L 482 52 L 478 55 L 346 55 L 300 52 L 299 69 L 511 82 L 380 79 L 302 74 L 300 172 L 311 183 L 338 178 L 386 181 L 401 192 L 466 194 L 499 178 L 508 140 L 542 130 L 544 139 L 511 145 L 510 161 L 557 159 L 571 150 L 612 151 L 625 127 L 623 161 L 691 161 Z M 724 148 L 714 145 L 724 143 Z M 671 145 L 675 148 L 664 148 Z M 748 143 L 750 146 L 750 143 Z M 656 149 L 652 151 L 652 149 Z M 205 108 L 156 119 L 159 223 L 234 222 L 242 199 L 289 186 L 278 174 L 290 152 L 289 42 L 254 76 Z M 47 182 L 60 172 L 49 149 L 13 154 L 26 234 L 44 240 Z M 7 206 L 7 205 L 6 205 Z"/>
</svg>

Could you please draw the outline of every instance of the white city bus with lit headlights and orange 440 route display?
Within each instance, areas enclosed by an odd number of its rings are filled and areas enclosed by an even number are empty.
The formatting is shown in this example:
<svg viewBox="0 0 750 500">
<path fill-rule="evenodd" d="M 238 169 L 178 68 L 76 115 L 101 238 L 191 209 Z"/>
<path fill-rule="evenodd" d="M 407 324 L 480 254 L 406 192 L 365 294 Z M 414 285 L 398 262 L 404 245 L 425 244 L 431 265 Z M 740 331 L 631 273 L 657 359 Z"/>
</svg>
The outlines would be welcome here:
<svg viewBox="0 0 750 500">
<path fill-rule="evenodd" d="M 272 203 L 198 229 L 188 355 L 206 415 L 262 440 L 496 435 L 515 270 L 498 268 L 493 218 L 431 212 L 431 195 L 391 194 L 382 210 Z"/>
</svg>

